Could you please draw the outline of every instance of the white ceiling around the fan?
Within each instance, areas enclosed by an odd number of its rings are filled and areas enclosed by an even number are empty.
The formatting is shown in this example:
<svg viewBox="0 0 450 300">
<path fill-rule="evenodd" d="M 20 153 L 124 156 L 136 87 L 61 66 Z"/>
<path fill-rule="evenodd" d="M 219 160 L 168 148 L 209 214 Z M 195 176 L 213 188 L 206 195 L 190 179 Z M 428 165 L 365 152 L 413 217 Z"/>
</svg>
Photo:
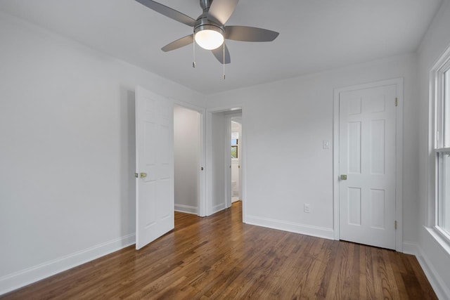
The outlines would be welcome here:
<svg viewBox="0 0 450 300">
<path fill-rule="evenodd" d="M 210 94 L 416 51 L 442 0 L 241 0 L 227 25 L 280 32 L 271 43 L 227 41 L 231 64 L 186 46 L 191 27 L 134 0 L 0 0 L 0 11 Z M 197 18 L 199 0 L 160 0 Z"/>
</svg>

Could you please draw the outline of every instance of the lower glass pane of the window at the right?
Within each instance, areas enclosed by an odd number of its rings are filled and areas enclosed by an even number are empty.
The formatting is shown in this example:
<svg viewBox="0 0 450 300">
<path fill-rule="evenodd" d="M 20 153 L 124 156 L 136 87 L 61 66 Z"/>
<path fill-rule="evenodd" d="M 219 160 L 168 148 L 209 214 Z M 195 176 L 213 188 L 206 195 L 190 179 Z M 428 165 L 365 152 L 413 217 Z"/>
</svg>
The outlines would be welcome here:
<svg viewBox="0 0 450 300">
<path fill-rule="evenodd" d="M 437 226 L 450 234 L 450 153 L 438 153 Z"/>
</svg>

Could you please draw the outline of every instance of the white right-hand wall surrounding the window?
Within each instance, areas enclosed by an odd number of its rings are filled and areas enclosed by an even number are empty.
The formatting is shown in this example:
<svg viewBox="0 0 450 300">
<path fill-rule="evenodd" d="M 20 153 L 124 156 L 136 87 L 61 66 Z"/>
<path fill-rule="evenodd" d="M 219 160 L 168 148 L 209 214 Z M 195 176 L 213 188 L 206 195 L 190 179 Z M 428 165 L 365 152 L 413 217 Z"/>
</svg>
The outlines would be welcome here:
<svg viewBox="0 0 450 300">
<path fill-rule="evenodd" d="M 428 226 L 430 223 L 430 202 L 433 201 L 432 188 L 430 188 L 430 164 L 432 164 L 432 151 L 430 150 L 430 107 L 429 82 L 430 70 L 439 56 L 450 46 L 450 1 L 444 0 L 435 20 L 433 20 L 419 49 L 419 133 L 418 148 L 420 149 L 420 214 L 415 229 L 418 231 L 418 254 L 420 264 L 423 266 L 428 279 L 435 291 L 442 299 L 449 299 L 450 295 L 450 253 L 437 243 Z M 446 296 L 444 296 L 446 295 Z"/>
</svg>

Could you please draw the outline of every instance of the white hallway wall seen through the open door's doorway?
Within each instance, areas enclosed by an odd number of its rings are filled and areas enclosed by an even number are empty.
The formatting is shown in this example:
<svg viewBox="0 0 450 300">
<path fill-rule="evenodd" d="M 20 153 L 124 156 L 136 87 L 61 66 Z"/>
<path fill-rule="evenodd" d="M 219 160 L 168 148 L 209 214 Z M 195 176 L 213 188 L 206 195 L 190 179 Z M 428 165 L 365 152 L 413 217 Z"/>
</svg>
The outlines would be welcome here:
<svg viewBox="0 0 450 300">
<path fill-rule="evenodd" d="M 200 113 L 174 106 L 175 210 L 198 214 Z"/>
</svg>

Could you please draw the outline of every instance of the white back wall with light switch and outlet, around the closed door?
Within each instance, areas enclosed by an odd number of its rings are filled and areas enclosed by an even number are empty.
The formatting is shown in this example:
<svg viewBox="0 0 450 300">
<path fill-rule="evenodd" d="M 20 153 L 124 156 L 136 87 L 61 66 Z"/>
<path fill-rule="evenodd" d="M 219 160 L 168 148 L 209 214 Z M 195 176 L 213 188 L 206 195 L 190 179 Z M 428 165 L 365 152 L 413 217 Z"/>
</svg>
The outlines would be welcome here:
<svg viewBox="0 0 450 300">
<path fill-rule="evenodd" d="M 333 141 L 333 90 L 404 77 L 404 240 L 418 240 L 416 66 L 410 54 L 210 96 L 210 109 L 243 103 L 245 220 L 333 238 L 333 152 L 322 149 Z"/>
</svg>

